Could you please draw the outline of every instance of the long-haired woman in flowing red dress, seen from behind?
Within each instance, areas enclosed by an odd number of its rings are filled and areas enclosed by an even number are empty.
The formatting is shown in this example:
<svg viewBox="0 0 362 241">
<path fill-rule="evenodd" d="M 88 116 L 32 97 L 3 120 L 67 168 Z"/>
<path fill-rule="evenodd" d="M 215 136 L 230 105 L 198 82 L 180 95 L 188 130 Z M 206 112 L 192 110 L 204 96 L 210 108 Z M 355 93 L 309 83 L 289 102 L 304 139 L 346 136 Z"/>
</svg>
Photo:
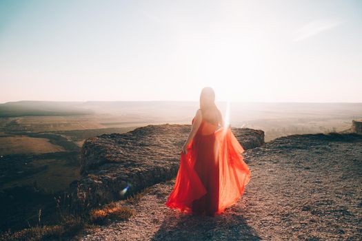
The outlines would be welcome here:
<svg viewBox="0 0 362 241">
<path fill-rule="evenodd" d="M 165 205 L 185 213 L 215 216 L 241 198 L 250 170 L 241 156 L 243 147 L 223 127 L 212 88 L 200 95 L 200 109 L 181 149 L 174 189 Z"/>
</svg>

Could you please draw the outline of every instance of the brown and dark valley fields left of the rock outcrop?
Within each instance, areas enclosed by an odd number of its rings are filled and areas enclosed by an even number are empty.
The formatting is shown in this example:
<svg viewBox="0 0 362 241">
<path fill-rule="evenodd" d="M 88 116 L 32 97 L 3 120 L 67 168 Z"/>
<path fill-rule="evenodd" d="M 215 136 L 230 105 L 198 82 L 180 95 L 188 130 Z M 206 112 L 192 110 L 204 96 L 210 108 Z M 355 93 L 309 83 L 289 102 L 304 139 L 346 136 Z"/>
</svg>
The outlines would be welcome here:
<svg viewBox="0 0 362 241">
<path fill-rule="evenodd" d="M 49 193 L 67 189 L 79 178 L 84 140 L 136 127 L 112 127 L 102 121 L 114 119 L 108 115 L 0 118 L 0 189 L 34 184 Z"/>
</svg>

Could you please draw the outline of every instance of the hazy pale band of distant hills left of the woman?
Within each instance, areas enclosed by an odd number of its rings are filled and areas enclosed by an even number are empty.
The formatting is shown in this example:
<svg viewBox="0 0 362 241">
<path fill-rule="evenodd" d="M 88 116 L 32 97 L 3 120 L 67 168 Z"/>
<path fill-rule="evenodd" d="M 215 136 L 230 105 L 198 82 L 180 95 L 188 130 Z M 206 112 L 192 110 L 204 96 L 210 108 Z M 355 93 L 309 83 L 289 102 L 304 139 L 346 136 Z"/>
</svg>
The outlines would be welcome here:
<svg viewBox="0 0 362 241">
<path fill-rule="evenodd" d="M 157 119 L 190 116 L 197 108 L 196 101 L 17 101 L 0 104 L 0 117 L 128 114 Z"/>
</svg>

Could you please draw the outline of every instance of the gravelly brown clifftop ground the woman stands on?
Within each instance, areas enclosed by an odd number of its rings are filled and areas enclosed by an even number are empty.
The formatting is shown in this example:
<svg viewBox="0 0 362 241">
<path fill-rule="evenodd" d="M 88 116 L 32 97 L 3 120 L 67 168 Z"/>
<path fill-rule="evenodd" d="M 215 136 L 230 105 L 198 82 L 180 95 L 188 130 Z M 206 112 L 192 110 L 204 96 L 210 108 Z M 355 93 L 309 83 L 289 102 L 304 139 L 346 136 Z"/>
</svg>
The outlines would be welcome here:
<svg viewBox="0 0 362 241">
<path fill-rule="evenodd" d="M 252 178 L 221 216 L 165 207 L 170 180 L 133 205 L 130 220 L 79 240 L 362 240 L 362 136 L 287 136 L 244 156 Z"/>
</svg>

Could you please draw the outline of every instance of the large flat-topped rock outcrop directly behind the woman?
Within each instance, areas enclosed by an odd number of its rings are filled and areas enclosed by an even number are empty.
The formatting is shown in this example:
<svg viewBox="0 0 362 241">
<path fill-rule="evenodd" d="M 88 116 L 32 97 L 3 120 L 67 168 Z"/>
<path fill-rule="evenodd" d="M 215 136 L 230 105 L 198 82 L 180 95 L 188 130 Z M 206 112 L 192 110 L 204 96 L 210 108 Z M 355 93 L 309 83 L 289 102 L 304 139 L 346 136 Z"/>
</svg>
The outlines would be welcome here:
<svg viewBox="0 0 362 241">
<path fill-rule="evenodd" d="M 177 175 L 181 146 L 191 125 L 148 125 L 125 134 L 103 134 L 86 140 L 81 180 L 72 183 L 77 205 L 97 207 Z M 244 149 L 264 145 L 264 132 L 232 128 Z"/>
</svg>

